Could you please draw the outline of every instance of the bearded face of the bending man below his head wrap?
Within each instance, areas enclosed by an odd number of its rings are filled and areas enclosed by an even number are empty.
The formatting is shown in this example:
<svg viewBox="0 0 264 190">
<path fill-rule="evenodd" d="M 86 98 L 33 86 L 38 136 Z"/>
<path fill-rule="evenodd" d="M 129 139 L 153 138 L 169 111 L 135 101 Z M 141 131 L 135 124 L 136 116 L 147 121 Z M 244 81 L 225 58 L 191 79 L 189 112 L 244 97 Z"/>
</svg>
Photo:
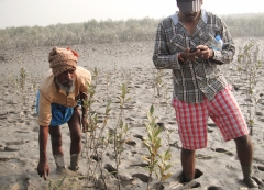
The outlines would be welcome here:
<svg viewBox="0 0 264 190">
<path fill-rule="evenodd" d="M 66 92 L 73 91 L 74 81 L 76 78 L 75 70 L 75 68 L 68 69 L 56 77 L 56 81 L 58 82 L 59 88 L 62 88 Z"/>
</svg>

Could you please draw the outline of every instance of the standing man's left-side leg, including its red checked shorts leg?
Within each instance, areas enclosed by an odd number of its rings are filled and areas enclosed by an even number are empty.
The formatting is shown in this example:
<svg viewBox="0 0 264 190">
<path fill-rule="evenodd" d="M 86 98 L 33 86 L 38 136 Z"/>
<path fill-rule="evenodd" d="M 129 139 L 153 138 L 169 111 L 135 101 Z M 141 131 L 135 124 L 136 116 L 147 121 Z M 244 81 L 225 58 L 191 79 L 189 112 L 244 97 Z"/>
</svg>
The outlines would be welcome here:
<svg viewBox="0 0 264 190">
<path fill-rule="evenodd" d="M 208 111 L 205 102 L 187 103 L 174 99 L 178 133 L 183 144 L 180 160 L 185 182 L 195 178 L 196 149 L 207 146 Z"/>
</svg>

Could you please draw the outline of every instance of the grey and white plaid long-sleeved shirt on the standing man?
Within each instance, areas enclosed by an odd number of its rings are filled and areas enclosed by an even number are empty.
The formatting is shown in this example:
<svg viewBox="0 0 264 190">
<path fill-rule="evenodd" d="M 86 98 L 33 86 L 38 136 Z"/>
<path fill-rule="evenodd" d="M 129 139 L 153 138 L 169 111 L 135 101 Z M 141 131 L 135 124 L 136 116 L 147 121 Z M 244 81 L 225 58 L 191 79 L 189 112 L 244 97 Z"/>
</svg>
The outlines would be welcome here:
<svg viewBox="0 0 264 190">
<path fill-rule="evenodd" d="M 196 62 L 186 60 L 179 65 L 180 52 L 200 44 L 211 48 L 210 44 L 218 34 L 223 41 L 223 49 L 213 51 L 213 59 L 198 58 Z M 157 69 L 173 70 L 174 98 L 198 103 L 204 101 L 204 96 L 212 100 L 227 87 L 228 82 L 217 63 L 230 64 L 234 53 L 234 43 L 224 22 L 219 16 L 201 10 L 201 16 L 193 35 L 188 34 L 177 12 L 164 19 L 156 31 L 152 59 Z"/>
</svg>

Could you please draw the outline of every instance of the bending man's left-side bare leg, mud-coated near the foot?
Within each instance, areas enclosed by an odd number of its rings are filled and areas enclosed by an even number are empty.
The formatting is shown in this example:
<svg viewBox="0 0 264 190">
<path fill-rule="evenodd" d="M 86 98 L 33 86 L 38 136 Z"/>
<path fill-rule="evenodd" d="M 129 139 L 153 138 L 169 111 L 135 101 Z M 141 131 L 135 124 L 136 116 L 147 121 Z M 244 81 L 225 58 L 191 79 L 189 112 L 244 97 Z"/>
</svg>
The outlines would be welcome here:
<svg viewBox="0 0 264 190">
<path fill-rule="evenodd" d="M 53 157 L 56 163 L 57 169 L 65 168 L 61 127 L 50 126 L 50 135 L 52 141 Z"/>
</svg>

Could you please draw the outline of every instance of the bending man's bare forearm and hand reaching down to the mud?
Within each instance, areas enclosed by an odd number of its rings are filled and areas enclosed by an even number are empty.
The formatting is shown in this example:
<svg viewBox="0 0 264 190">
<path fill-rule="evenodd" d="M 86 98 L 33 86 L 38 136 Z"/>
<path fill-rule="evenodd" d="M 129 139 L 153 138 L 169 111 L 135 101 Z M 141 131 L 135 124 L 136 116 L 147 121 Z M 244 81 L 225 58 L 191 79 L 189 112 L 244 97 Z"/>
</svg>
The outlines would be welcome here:
<svg viewBox="0 0 264 190">
<path fill-rule="evenodd" d="M 40 126 L 38 145 L 40 145 L 40 161 L 37 166 L 38 175 L 46 180 L 50 175 L 50 166 L 47 161 L 46 146 L 48 138 L 48 126 Z"/>
</svg>

